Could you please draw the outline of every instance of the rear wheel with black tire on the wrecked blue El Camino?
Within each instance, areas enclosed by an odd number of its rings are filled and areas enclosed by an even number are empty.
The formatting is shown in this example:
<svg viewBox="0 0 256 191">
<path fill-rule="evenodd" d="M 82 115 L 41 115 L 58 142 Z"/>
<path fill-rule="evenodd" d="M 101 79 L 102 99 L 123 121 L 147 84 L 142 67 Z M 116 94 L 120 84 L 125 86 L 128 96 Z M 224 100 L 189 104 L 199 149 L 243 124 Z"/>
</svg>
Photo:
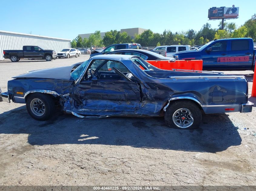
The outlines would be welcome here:
<svg viewBox="0 0 256 191">
<path fill-rule="evenodd" d="M 165 123 L 171 128 L 196 129 L 201 121 L 201 110 L 191 101 L 180 100 L 171 102 L 165 112 Z"/>
</svg>

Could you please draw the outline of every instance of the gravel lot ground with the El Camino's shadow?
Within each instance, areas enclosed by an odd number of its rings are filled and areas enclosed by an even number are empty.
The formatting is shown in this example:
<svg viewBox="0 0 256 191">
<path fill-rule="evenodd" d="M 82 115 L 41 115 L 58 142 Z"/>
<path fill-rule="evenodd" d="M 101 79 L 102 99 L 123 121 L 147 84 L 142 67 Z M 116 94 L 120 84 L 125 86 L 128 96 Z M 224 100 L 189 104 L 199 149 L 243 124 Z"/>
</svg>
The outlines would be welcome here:
<svg viewBox="0 0 256 191">
<path fill-rule="evenodd" d="M 87 59 L 0 61 L 0 87 L 6 91 L 12 76 L 30 70 Z M 252 71 L 225 73 L 245 75 L 251 94 Z M 1 102 L 0 186 L 256 185 L 255 113 L 254 107 L 252 113 L 205 115 L 199 129 L 178 130 L 162 117 L 57 113 L 36 121 L 24 104 Z"/>
</svg>

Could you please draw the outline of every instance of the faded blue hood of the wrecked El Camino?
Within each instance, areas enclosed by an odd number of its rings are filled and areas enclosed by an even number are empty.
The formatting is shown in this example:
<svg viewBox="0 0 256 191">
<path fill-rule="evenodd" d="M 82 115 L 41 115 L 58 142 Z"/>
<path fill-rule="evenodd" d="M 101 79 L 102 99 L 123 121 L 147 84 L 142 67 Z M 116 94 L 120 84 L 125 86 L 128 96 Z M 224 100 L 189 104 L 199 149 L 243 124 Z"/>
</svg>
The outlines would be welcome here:
<svg viewBox="0 0 256 191">
<path fill-rule="evenodd" d="M 48 79 L 61 79 L 73 80 L 70 72 L 74 66 L 64 66 L 59 68 L 47 68 L 41 70 L 29 71 L 28 73 L 18 75 L 12 78 L 48 78 Z"/>
</svg>

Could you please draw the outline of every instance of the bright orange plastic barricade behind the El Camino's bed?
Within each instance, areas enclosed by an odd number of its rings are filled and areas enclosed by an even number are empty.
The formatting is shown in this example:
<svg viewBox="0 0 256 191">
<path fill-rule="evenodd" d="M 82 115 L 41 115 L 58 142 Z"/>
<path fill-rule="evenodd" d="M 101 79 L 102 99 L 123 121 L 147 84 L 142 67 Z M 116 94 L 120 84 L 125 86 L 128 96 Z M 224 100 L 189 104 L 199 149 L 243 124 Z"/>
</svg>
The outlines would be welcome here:
<svg viewBox="0 0 256 191">
<path fill-rule="evenodd" d="M 175 62 L 169 62 L 169 60 L 147 60 L 148 63 L 153 66 L 163 69 L 184 69 L 184 70 L 202 70 L 203 61 L 202 60 L 176 60 Z"/>
</svg>

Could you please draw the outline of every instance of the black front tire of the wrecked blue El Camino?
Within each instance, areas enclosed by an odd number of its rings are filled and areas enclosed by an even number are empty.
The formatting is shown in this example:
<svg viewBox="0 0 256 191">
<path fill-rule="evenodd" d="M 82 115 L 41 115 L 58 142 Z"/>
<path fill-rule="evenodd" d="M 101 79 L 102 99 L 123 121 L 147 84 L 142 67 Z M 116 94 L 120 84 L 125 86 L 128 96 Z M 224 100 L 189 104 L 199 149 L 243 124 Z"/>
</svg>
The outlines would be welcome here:
<svg viewBox="0 0 256 191">
<path fill-rule="evenodd" d="M 41 100 L 43 103 L 43 106 L 38 106 L 41 108 L 41 109 L 40 108 L 38 109 L 42 110 L 42 113 L 41 113 L 42 115 L 40 114 L 40 110 L 36 115 L 35 113 L 37 112 L 35 111 L 35 109 L 32 108 L 35 105 L 39 105 L 40 102 L 37 102 L 38 104 L 35 104 L 36 100 Z M 51 95 L 43 94 L 43 93 L 34 93 L 31 95 L 28 95 L 28 98 L 26 99 L 26 108 L 29 115 L 32 118 L 39 121 L 45 121 L 50 119 L 53 116 L 55 112 L 55 103 Z M 43 108 L 45 109 L 44 112 L 43 112 Z"/>
</svg>

